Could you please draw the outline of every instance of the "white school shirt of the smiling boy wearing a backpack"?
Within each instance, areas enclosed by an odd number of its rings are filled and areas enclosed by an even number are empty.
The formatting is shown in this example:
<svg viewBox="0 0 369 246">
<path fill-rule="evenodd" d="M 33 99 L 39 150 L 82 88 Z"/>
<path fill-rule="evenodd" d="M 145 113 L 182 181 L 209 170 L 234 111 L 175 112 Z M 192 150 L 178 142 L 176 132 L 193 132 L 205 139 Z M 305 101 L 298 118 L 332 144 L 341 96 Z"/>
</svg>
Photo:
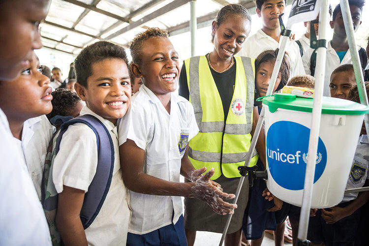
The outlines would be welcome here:
<svg viewBox="0 0 369 246">
<path fill-rule="evenodd" d="M 96 246 L 125 246 L 130 217 L 129 194 L 122 179 L 117 127 L 84 106 L 80 115 L 86 114 L 95 116 L 106 126 L 114 145 L 112 181 L 100 212 L 85 230 L 87 242 Z M 88 125 L 75 123 L 68 127 L 53 165 L 53 182 L 58 193 L 63 191 L 63 185 L 88 191 L 97 167 L 96 135 Z"/>
</svg>

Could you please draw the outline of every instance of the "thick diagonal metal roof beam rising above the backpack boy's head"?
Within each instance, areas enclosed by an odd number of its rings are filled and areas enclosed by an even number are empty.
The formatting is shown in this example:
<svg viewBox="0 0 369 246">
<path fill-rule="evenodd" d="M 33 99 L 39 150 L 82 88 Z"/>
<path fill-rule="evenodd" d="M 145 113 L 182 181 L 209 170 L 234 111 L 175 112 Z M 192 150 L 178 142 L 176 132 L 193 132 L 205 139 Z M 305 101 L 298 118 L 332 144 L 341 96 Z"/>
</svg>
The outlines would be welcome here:
<svg viewBox="0 0 369 246">
<path fill-rule="evenodd" d="M 119 36 L 119 35 L 123 34 L 124 32 L 132 30 L 136 27 L 139 27 L 139 26 L 143 25 L 146 22 L 149 22 L 149 21 L 151 21 L 151 20 L 153 20 L 153 19 L 155 19 L 155 18 L 157 18 L 157 17 L 159 17 L 159 16 L 161 16 L 161 15 L 163 15 L 163 14 L 169 12 L 169 11 L 172 11 L 173 9 L 176 9 L 176 8 L 186 4 L 189 1 L 190 0 L 174 0 L 170 3 L 168 3 L 167 5 L 159 8 L 158 10 L 154 11 L 153 13 L 148 14 L 147 16 L 144 16 L 140 20 L 129 24 L 127 27 L 121 29 L 120 31 L 117 31 L 117 32 L 107 36 L 105 39 L 107 39 L 107 40 L 112 39 L 116 36 Z"/>
</svg>

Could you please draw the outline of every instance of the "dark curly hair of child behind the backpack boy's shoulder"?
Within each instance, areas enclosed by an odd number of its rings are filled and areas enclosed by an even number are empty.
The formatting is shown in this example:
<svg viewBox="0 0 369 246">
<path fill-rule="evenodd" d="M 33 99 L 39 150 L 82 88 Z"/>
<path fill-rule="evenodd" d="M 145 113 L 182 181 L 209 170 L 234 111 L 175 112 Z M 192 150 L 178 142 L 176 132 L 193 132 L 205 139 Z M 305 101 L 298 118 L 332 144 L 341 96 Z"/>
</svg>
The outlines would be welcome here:
<svg viewBox="0 0 369 246">
<path fill-rule="evenodd" d="M 49 121 L 56 115 L 72 116 L 74 108 L 81 101 L 76 92 L 63 88 L 58 88 L 54 92 L 51 92 L 51 94 L 53 95 L 53 99 L 51 100 L 53 110 L 46 115 Z"/>
</svg>

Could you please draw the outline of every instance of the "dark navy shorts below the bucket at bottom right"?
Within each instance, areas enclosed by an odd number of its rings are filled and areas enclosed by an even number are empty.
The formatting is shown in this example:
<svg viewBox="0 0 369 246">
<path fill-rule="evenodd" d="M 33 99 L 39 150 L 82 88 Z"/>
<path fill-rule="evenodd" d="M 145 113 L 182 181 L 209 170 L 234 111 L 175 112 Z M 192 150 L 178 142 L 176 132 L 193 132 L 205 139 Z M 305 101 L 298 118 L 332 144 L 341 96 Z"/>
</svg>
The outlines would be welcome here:
<svg viewBox="0 0 369 246">
<path fill-rule="evenodd" d="M 344 202 L 337 207 L 344 208 L 350 202 Z M 307 239 L 312 243 L 324 243 L 326 246 L 353 246 L 360 221 L 360 209 L 352 215 L 327 224 L 321 216 L 321 210 L 309 219 Z"/>
</svg>

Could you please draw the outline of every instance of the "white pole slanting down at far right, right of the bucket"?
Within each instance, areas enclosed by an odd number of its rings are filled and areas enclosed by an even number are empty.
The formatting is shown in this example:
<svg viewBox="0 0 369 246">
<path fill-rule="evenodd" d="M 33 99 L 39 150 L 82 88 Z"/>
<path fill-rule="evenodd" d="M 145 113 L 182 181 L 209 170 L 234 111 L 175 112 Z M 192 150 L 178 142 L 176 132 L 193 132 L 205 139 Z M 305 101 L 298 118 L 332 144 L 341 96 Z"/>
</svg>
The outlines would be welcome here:
<svg viewBox="0 0 369 246">
<path fill-rule="evenodd" d="M 341 13 L 343 18 L 343 24 L 346 30 L 348 47 L 350 48 L 350 54 L 352 59 L 352 65 L 354 66 L 356 84 L 358 85 L 358 91 L 360 96 L 360 102 L 369 106 L 367 90 L 365 89 L 364 76 L 362 72 L 361 62 L 359 58 L 359 51 L 356 48 L 356 41 L 354 36 L 354 26 L 351 20 L 350 6 L 347 0 L 340 0 Z M 369 136 L 369 114 L 364 118 L 365 127 L 367 128 L 367 135 Z"/>
</svg>

